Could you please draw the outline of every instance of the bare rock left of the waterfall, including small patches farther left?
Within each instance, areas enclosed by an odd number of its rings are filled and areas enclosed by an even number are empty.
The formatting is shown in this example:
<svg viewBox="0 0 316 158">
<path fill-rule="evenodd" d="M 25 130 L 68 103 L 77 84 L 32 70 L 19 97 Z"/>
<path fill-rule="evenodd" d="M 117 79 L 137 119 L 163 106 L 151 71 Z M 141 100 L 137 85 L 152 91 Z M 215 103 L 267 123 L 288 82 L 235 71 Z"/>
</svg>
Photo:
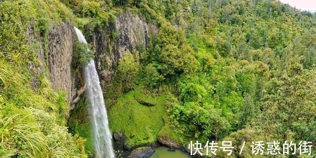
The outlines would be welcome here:
<svg viewBox="0 0 316 158">
<path fill-rule="evenodd" d="M 32 26 L 27 28 L 26 36 L 28 43 L 43 42 L 39 33 L 36 33 Z M 75 40 L 77 36 L 74 26 L 70 23 L 62 23 L 59 26 L 53 25 L 48 31 L 47 41 L 48 49 L 44 50 L 41 44 L 38 45 L 38 55 L 40 66 L 32 69 L 48 69 L 48 77 L 55 91 L 64 91 L 67 93 L 67 103 L 73 107 L 74 103 L 79 100 L 79 96 L 84 92 L 84 85 L 80 79 L 80 72 L 74 68 L 73 54 L 75 51 Z M 46 51 L 46 52 L 45 52 Z M 33 74 L 34 89 L 39 88 L 39 82 L 36 81 L 38 74 Z"/>
</svg>

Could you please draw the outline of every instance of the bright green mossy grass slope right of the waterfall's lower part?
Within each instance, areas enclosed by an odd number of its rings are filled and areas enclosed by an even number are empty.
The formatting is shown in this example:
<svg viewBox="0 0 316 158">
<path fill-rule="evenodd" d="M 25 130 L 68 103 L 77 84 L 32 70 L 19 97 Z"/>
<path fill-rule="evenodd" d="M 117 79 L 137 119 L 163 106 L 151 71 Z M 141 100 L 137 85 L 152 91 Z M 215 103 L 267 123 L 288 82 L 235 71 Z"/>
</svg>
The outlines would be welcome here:
<svg viewBox="0 0 316 158">
<path fill-rule="evenodd" d="M 131 146 L 155 142 L 160 129 L 164 126 L 162 117 L 165 115 L 165 95 L 155 98 L 157 104 L 148 107 L 139 104 L 134 94 L 134 91 L 130 91 L 122 95 L 109 109 L 111 131 L 124 132 L 127 143 Z"/>
</svg>

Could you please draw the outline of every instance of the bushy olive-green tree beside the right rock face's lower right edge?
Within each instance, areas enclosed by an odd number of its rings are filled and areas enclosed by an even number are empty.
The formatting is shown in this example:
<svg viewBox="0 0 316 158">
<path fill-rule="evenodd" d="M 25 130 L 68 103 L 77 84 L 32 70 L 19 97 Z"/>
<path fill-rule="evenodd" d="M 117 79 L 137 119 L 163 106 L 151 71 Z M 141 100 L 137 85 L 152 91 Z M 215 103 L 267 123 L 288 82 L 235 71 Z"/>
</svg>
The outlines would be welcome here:
<svg viewBox="0 0 316 158">
<path fill-rule="evenodd" d="M 162 76 L 190 74 L 197 71 L 199 63 L 194 57 L 194 51 L 185 43 L 182 30 L 175 30 L 168 24 L 160 27 L 151 58 L 159 63 L 157 69 Z"/>
</svg>

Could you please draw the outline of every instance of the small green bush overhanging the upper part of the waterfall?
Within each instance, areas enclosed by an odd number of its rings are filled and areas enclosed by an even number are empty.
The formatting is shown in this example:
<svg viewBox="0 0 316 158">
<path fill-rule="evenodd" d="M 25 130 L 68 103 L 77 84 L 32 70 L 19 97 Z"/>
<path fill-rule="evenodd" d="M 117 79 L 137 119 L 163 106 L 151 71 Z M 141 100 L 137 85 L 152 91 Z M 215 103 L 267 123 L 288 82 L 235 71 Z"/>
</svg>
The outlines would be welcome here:
<svg viewBox="0 0 316 158">
<path fill-rule="evenodd" d="M 88 44 L 76 40 L 74 59 L 77 62 L 78 68 L 85 67 L 93 59 L 94 55 L 89 47 Z"/>
</svg>

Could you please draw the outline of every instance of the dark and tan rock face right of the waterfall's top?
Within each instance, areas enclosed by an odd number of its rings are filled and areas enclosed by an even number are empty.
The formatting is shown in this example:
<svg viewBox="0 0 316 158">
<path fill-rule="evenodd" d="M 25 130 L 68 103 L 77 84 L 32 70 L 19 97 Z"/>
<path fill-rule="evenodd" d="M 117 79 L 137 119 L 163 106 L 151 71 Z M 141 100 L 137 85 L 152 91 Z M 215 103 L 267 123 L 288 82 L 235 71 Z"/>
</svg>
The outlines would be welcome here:
<svg viewBox="0 0 316 158">
<path fill-rule="evenodd" d="M 95 30 L 87 40 L 95 52 L 96 68 L 101 85 L 109 84 L 115 74 L 118 60 L 129 50 L 134 56 L 145 50 L 150 36 L 158 33 L 157 27 L 147 24 L 140 16 L 124 11 L 103 30 Z M 139 55 L 139 54 L 137 54 Z M 104 86 L 103 86 L 104 87 Z M 104 88 L 105 89 L 105 88 Z"/>
</svg>

